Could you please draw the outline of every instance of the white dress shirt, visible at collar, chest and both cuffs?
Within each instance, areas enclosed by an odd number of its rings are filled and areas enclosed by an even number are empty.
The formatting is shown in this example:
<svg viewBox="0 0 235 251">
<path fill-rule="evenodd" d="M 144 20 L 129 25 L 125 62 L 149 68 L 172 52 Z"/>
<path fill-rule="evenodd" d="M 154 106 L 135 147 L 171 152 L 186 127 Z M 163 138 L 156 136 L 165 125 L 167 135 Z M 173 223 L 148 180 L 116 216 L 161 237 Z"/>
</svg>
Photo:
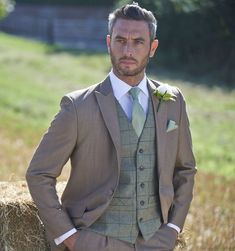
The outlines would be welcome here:
<svg viewBox="0 0 235 251">
<path fill-rule="evenodd" d="M 113 94 L 119 104 L 121 105 L 123 111 L 126 113 L 129 121 L 131 121 L 131 114 L 132 114 L 132 97 L 128 93 L 128 91 L 132 88 L 127 83 L 123 82 L 121 79 L 119 79 L 113 71 L 109 73 L 111 85 L 113 88 Z M 147 87 L 147 77 L 144 75 L 144 78 L 140 81 L 140 83 L 137 85 L 140 88 L 140 93 L 138 96 L 139 103 L 144 109 L 145 114 L 148 112 L 148 99 L 149 99 L 149 91 Z M 178 233 L 180 232 L 180 228 L 172 223 L 167 224 L 169 227 L 174 228 Z M 71 229 L 70 231 L 66 232 L 65 234 L 61 235 L 60 237 L 55 239 L 55 244 L 59 245 L 64 240 L 66 240 L 68 237 L 76 233 L 76 228 Z"/>
</svg>

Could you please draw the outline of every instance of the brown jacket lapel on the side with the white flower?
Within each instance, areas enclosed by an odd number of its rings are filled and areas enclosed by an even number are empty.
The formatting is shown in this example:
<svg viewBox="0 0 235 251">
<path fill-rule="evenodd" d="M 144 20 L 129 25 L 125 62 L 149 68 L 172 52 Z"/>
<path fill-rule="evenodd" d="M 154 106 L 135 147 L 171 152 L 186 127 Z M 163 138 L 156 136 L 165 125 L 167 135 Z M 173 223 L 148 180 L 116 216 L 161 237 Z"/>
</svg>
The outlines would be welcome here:
<svg viewBox="0 0 235 251">
<path fill-rule="evenodd" d="M 153 104 L 155 123 L 156 123 L 156 143 L 157 143 L 157 163 L 158 174 L 161 175 L 161 171 L 165 164 L 165 148 L 166 148 L 166 125 L 167 125 L 167 102 L 161 102 L 160 108 L 157 112 L 159 105 L 159 99 L 153 95 L 156 86 L 151 80 L 148 79 L 150 97 Z"/>
</svg>

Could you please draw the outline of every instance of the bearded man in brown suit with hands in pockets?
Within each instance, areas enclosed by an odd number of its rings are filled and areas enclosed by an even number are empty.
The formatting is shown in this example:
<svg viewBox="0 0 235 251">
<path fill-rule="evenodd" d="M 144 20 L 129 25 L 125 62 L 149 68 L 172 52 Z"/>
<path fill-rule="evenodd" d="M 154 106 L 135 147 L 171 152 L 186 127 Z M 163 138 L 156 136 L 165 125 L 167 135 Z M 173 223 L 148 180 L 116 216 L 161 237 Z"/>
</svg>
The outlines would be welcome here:
<svg viewBox="0 0 235 251">
<path fill-rule="evenodd" d="M 52 250 L 175 246 L 196 168 L 180 91 L 145 75 L 158 47 L 155 35 L 153 14 L 136 3 L 110 14 L 112 71 L 62 99 L 34 154 L 26 177 Z M 59 202 L 56 178 L 69 158 Z"/>
</svg>

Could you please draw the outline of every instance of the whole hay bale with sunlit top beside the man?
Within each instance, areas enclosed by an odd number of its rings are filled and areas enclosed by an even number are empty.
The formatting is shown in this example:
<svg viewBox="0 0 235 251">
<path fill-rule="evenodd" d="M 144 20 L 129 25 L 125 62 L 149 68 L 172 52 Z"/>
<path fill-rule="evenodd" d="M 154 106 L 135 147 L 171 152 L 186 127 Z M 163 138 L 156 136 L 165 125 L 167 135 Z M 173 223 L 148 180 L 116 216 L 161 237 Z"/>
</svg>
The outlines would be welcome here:
<svg viewBox="0 0 235 251">
<path fill-rule="evenodd" d="M 49 251 L 45 229 L 25 182 L 0 182 L 0 250 Z"/>
</svg>

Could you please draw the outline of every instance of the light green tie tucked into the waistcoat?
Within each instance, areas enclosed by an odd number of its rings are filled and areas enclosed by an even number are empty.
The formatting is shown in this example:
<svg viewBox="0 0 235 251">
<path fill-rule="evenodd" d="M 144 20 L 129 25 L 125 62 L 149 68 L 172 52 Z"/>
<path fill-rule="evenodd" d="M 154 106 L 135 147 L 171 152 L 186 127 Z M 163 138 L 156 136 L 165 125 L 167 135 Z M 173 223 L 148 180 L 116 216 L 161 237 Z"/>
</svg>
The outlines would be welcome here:
<svg viewBox="0 0 235 251">
<path fill-rule="evenodd" d="M 146 115 L 143 107 L 139 103 L 138 95 L 140 93 L 140 88 L 133 87 L 129 90 L 130 95 L 133 98 L 133 108 L 132 108 L 132 126 L 139 137 L 145 123 Z"/>
</svg>

